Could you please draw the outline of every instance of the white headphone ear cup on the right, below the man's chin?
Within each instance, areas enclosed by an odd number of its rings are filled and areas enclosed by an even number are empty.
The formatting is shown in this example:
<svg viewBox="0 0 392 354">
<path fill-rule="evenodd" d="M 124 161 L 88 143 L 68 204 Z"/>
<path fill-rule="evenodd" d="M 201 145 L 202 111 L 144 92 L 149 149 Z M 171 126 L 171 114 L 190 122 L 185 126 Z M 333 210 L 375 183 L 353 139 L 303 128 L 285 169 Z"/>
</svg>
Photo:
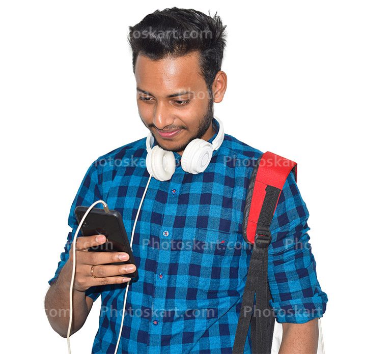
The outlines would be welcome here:
<svg viewBox="0 0 392 354">
<path fill-rule="evenodd" d="M 182 169 L 192 174 L 203 172 L 211 161 L 212 151 L 212 144 L 208 141 L 193 139 L 182 153 Z"/>
</svg>

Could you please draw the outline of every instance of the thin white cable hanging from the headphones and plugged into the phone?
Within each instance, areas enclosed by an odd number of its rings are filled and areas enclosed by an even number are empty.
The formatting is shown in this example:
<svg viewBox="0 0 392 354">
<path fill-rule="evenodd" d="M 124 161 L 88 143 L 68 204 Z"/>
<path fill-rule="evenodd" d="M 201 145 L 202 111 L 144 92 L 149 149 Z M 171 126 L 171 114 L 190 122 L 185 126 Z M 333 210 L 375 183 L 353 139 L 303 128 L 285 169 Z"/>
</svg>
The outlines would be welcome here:
<svg viewBox="0 0 392 354">
<path fill-rule="evenodd" d="M 132 250 L 133 234 L 134 234 L 134 232 L 135 232 L 135 227 L 136 227 L 137 218 L 138 218 L 138 216 L 139 216 L 139 213 L 140 213 L 140 210 L 141 210 L 141 207 L 142 207 L 142 204 L 143 204 L 143 200 L 144 200 L 144 197 L 145 197 L 146 192 L 147 192 L 148 185 L 150 184 L 151 177 L 152 177 L 152 176 L 151 176 L 151 174 L 150 174 L 150 177 L 149 177 L 149 179 L 148 179 L 146 188 L 145 188 L 144 193 L 143 193 L 143 196 L 142 196 L 142 200 L 140 201 L 139 208 L 138 208 L 137 213 L 136 213 L 136 218 L 135 218 L 135 222 L 134 222 L 134 224 L 133 224 L 132 235 L 131 235 L 131 242 L 130 242 L 131 250 Z M 73 242 L 73 244 L 72 244 L 72 257 L 73 257 L 73 262 L 72 262 L 71 283 L 70 283 L 70 287 L 69 287 L 69 308 L 70 308 L 70 312 L 69 312 L 69 322 L 68 322 L 68 331 L 67 331 L 67 344 L 68 344 L 68 353 L 69 353 L 69 354 L 71 354 L 71 343 L 70 343 L 69 337 L 70 337 L 70 333 L 71 333 L 72 315 L 73 315 L 73 311 L 72 311 L 72 307 L 73 307 L 73 306 L 72 306 L 72 292 L 73 292 L 73 282 L 74 282 L 74 279 L 75 279 L 75 271 L 76 271 L 76 237 L 77 237 L 77 234 L 79 233 L 79 230 L 80 230 L 80 228 L 81 228 L 81 225 L 83 225 L 83 222 L 85 221 L 87 215 L 88 215 L 88 214 L 90 213 L 90 211 L 94 208 L 94 206 L 95 206 L 96 204 L 98 204 L 98 203 L 102 203 L 102 204 L 103 204 L 103 209 L 105 210 L 106 213 L 109 212 L 109 208 L 108 208 L 107 204 L 106 204 L 103 200 L 97 200 L 97 201 L 95 201 L 93 204 L 91 204 L 90 207 L 89 207 L 89 209 L 86 211 L 85 215 L 83 215 L 83 217 L 82 217 L 81 220 L 80 220 L 80 223 L 79 223 L 79 225 L 78 225 L 78 227 L 77 227 L 77 229 L 76 229 L 76 232 L 75 232 L 74 242 Z M 126 289 L 125 289 L 123 316 L 122 316 L 122 319 L 121 319 L 120 333 L 119 333 L 119 337 L 118 337 L 117 345 L 116 345 L 116 350 L 115 350 L 115 353 L 114 353 L 114 354 L 117 353 L 117 349 L 118 349 L 119 343 L 120 343 L 121 333 L 122 333 L 122 330 L 123 330 L 124 313 L 125 313 L 125 304 L 126 304 L 126 301 L 127 301 L 128 288 L 129 288 L 129 282 L 127 283 L 127 287 L 126 287 Z"/>
</svg>

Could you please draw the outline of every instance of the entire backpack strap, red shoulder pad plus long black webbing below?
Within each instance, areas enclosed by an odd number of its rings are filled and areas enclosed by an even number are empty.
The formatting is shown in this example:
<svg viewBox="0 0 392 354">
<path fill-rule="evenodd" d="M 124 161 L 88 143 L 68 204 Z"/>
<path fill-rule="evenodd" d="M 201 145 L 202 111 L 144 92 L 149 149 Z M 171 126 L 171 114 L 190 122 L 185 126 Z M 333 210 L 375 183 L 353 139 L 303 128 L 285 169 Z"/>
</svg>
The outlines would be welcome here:
<svg viewBox="0 0 392 354">
<path fill-rule="evenodd" d="M 249 324 L 252 352 L 271 352 L 275 314 L 269 306 L 269 227 L 287 176 L 292 170 L 297 181 L 297 164 L 294 161 L 266 152 L 257 160 L 250 177 L 242 231 L 245 241 L 254 247 L 242 297 L 233 354 L 243 353 Z M 255 295 L 256 310 L 253 315 Z"/>
</svg>

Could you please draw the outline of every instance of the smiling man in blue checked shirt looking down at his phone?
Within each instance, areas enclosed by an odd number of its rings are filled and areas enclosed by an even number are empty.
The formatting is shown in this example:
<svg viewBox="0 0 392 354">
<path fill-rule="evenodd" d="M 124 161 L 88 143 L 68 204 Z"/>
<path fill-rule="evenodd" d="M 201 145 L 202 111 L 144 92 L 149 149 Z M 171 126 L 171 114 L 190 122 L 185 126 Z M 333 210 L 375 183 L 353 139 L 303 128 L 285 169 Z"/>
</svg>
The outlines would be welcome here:
<svg viewBox="0 0 392 354">
<path fill-rule="evenodd" d="M 219 16 L 178 8 L 155 11 L 130 27 L 139 116 L 154 144 L 174 153 L 176 168 L 170 180 L 151 179 L 135 225 L 132 251 L 139 278 L 129 284 L 119 352 L 207 353 L 233 348 L 251 255 L 242 238 L 244 202 L 254 168 L 249 162 L 262 153 L 225 134 L 205 171 L 193 174 L 181 167 L 191 140 L 212 142 L 217 136 L 213 103 L 222 101 L 227 87 L 227 75 L 220 70 L 225 27 Z M 75 207 L 106 201 L 109 209 L 123 215 L 130 235 L 150 177 L 146 157 L 146 138 L 118 147 L 91 164 L 79 187 L 68 220 L 72 231 L 45 299 L 49 322 L 63 337 L 68 318 L 49 313 L 69 307 Z M 270 305 L 283 323 L 282 354 L 316 352 L 317 320 L 328 300 L 308 243 L 308 217 L 291 172 L 271 223 L 268 249 Z M 95 236 L 78 237 L 76 242 L 71 333 L 83 326 L 101 296 L 93 353 L 114 352 L 129 281 L 123 275 L 135 270 L 135 265 L 107 264 L 127 255 L 84 252 L 104 242 L 105 237 Z M 219 251 L 194 247 L 214 242 Z M 234 244 L 242 247 L 229 247 Z M 247 340 L 245 352 L 250 346 Z"/>
</svg>

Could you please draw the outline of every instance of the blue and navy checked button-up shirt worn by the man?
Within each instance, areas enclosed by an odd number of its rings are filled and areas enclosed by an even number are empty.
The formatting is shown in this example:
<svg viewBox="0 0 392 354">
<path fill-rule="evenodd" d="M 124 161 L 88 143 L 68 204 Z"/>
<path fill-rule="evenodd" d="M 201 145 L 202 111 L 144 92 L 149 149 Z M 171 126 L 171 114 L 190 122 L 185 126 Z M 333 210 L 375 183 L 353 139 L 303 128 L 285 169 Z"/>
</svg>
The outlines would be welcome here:
<svg viewBox="0 0 392 354">
<path fill-rule="evenodd" d="M 218 123 L 214 120 L 215 131 Z M 215 138 L 215 135 L 209 140 Z M 65 250 L 77 228 L 74 210 L 103 199 L 119 211 L 129 241 L 149 174 L 146 138 L 99 157 L 89 167 L 72 203 Z M 245 197 L 257 149 L 225 134 L 203 173 L 179 165 L 170 181 L 151 179 L 134 233 L 139 279 L 131 281 L 119 353 L 230 353 L 241 308 L 251 248 L 242 237 Z M 101 207 L 101 205 L 97 205 Z M 278 322 L 322 317 L 327 295 L 316 275 L 309 243 L 309 213 L 290 173 L 271 224 L 268 280 Z M 91 287 L 101 296 L 93 353 L 113 353 L 126 284 Z M 250 352 L 250 332 L 245 352 Z"/>
</svg>

